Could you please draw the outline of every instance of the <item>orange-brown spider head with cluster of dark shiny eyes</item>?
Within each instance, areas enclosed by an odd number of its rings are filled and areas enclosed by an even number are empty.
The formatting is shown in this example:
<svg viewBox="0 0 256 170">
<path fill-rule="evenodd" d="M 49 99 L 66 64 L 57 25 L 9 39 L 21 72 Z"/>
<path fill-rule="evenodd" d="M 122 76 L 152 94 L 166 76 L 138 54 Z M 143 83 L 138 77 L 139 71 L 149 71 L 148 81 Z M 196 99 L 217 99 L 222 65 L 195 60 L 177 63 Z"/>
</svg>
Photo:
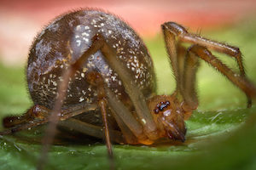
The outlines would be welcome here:
<svg viewBox="0 0 256 170">
<path fill-rule="evenodd" d="M 155 96 L 149 102 L 149 108 L 154 122 L 158 125 L 161 136 L 172 140 L 185 141 L 186 127 L 180 102 L 175 95 Z"/>
</svg>

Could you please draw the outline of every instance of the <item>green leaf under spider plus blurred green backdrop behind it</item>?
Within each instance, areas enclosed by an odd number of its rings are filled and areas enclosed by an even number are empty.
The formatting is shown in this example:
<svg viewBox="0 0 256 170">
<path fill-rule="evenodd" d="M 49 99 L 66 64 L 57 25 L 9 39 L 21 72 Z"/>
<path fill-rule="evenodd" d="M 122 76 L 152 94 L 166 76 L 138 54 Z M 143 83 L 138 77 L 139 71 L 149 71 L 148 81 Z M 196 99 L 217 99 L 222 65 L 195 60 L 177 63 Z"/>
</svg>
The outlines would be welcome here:
<svg viewBox="0 0 256 170">
<path fill-rule="evenodd" d="M 241 49 L 247 76 L 256 82 L 256 22 L 201 32 Z M 172 94 L 175 81 L 166 58 L 162 35 L 146 38 L 154 59 L 158 94 Z M 219 59 L 236 70 L 236 62 L 225 55 Z M 201 62 L 197 74 L 200 107 L 187 121 L 185 143 L 154 146 L 114 144 L 117 169 L 255 169 L 256 107 L 246 109 L 246 97 L 212 67 Z M 0 119 L 26 111 L 32 102 L 26 92 L 25 70 L 0 65 Z M 35 131 L 37 132 L 37 131 Z M 37 136 L 34 131 L 25 137 Z M 38 132 L 37 132 L 38 133 Z M 28 135 L 29 134 L 29 135 Z M 40 134 L 40 132 L 39 132 Z M 22 133 L 0 136 L 0 169 L 34 169 L 40 144 L 26 142 Z M 107 169 L 108 156 L 102 143 L 52 146 L 48 169 Z"/>
</svg>

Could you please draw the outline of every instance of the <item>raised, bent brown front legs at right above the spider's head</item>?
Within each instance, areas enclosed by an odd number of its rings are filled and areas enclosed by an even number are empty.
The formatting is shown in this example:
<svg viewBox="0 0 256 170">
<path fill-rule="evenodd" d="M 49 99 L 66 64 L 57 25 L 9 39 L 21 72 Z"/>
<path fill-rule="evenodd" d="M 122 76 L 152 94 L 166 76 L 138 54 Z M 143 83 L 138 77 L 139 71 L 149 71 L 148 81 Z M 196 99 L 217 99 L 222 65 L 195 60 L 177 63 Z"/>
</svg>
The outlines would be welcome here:
<svg viewBox="0 0 256 170">
<path fill-rule="evenodd" d="M 185 102 L 184 106 L 187 109 L 194 110 L 198 105 L 195 92 L 195 73 L 198 68 L 198 59 L 205 60 L 240 88 L 247 95 L 247 107 L 251 107 L 252 98 L 256 97 L 256 88 L 247 79 L 239 48 L 189 33 L 183 26 L 173 22 L 163 24 L 162 30 L 165 35 L 167 52 L 172 62 L 172 70 L 177 81 L 177 91 L 182 95 Z M 186 59 L 180 58 L 181 54 L 177 50 L 181 47 L 181 42 L 192 43 L 192 46 L 187 49 Z M 236 58 L 240 74 L 236 74 L 227 65 L 224 65 L 208 49 Z"/>
</svg>

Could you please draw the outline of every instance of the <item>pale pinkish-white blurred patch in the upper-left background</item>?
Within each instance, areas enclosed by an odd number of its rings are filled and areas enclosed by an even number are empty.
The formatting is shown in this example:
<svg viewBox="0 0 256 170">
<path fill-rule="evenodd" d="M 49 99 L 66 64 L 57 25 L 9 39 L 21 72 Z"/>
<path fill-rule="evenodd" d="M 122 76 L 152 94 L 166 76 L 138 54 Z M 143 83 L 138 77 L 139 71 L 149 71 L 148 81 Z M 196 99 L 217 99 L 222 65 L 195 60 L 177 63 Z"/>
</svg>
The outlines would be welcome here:
<svg viewBox="0 0 256 170">
<path fill-rule="evenodd" d="M 0 23 L 4 23 L 0 25 L 0 62 L 5 65 L 24 65 L 40 26 L 24 17 L 1 13 Z"/>
</svg>

